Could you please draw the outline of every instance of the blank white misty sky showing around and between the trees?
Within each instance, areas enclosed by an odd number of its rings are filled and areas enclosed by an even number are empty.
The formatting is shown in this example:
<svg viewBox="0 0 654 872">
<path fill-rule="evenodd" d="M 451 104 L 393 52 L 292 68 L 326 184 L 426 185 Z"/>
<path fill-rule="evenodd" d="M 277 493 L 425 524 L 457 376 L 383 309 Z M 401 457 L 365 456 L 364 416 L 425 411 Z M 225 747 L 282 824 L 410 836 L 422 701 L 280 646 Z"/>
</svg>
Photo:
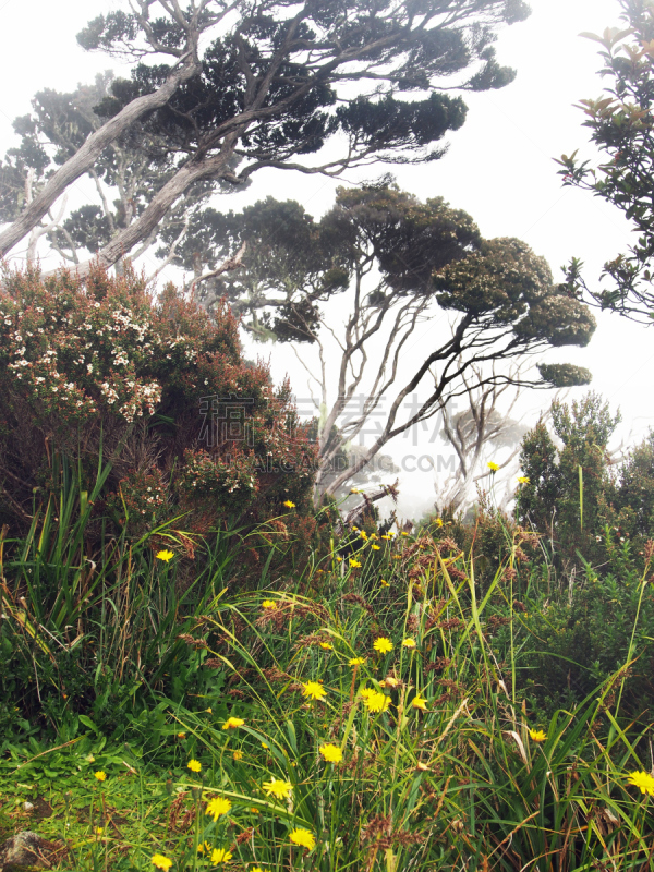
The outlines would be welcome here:
<svg viewBox="0 0 654 872">
<path fill-rule="evenodd" d="M 600 58 L 596 44 L 579 33 L 618 26 L 620 8 L 617 0 L 531 0 L 531 5 L 532 16 L 506 28 L 497 46 L 500 62 L 518 70 L 517 81 L 499 92 L 464 95 L 468 121 L 449 137 L 450 153 L 443 160 L 390 169 L 403 189 L 423 198 L 445 196 L 452 206 L 469 211 L 486 238 L 523 239 L 549 261 L 556 278 L 559 267 L 574 255 L 585 262 L 588 279 L 595 280 L 602 264 L 625 251 L 629 228 L 603 201 L 562 189 L 553 158 L 576 148 L 586 157 L 593 155 L 583 114 L 573 104 L 601 93 Z M 11 122 L 29 111 L 36 90 L 72 89 L 96 72 L 119 70 L 116 60 L 87 55 L 75 40 L 89 19 L 118 7 L 122 3 L 117 0 L 0 0 L 0 154 L 13 144 Z M 372 178 L 384 169 L 367 169 L 360 178 Z M 319 216 L 330 206 L 337 184 L 266 171 L 255 177 L 250 191 L 230 197 L 229 205 L 238 208 L 272 194 L 295 198 Z M 81 194 L 84 186 L 81 181 Z M 428 329 L 424 342 L 428 342 Z M 649 390 L 653 338 L 652 330 L 603 315 L 588 349 L 562 349 L 555 353 L 558 358 L 549 354 L 547 360 L 590 368 L 593 388 L 620 407 L 626 429 L 632 427 L 634 435 L 641 435 L 654 425 L 654 396 Z M 424 347 L 417 341 L 410 355 L 420 355 Z M 293 384 L 298 365 L 289 350 L 264 347 L 261 351 L 271 354 L 275 377 L 290 372 Z M 546 393 L 533 397 L 534 408 L 547 402 Z M 405 444 L 397 450 L 405 450 Z M 415 517 L 433 501 L 426 477 L 407 479 L 400 504 L 403 513 Z"/>
</svg>

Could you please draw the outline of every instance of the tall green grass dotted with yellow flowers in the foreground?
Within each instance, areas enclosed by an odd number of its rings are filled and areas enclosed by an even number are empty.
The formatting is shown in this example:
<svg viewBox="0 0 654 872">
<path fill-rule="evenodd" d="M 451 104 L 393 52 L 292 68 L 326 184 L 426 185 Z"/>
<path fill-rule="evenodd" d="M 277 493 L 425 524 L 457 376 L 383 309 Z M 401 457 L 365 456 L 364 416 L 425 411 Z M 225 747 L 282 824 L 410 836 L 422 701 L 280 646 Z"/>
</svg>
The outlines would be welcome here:
<svg viewBox="0 0 654 872">
<path fill-rule="evenodd" d="M 625 669 L 536 719 L 519 692 L 524 616 L 504 568 L 482 594 L 463 554 L 426 536 L 371 542 L 241 591 L 218 547 L 181 597 L 174 561 L 119 543 L 105 576 L 113 611 L 96 598 L 83 629 L 100 614 L 94 639 L 122 668 L 112 692 L 135 675 L 141 689 L 112 728 L 90 704 L 58 715 L 57 741 L 5 741 L 0 823 L 57 840 L 52 867 L 75 872 L 653 869 L 649 731 L 620 715 Z M 40 626 L 29 650 L 47 663 Z M 629 783 L 634 772 L 651 789 Z"/>
</svg>

